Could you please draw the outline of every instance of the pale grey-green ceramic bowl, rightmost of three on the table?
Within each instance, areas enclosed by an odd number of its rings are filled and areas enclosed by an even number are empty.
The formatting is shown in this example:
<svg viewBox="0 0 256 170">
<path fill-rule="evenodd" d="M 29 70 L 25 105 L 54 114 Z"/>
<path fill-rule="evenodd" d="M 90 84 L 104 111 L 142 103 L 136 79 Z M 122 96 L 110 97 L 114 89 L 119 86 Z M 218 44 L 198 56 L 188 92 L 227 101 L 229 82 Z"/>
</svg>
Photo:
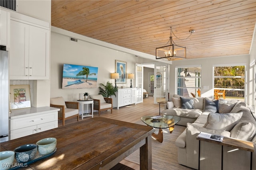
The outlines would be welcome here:
<svg viewBox="0 0 256 170">
<path fill-rule="evenodd" d="M 38 152 L 42 155 L 46 155 L 46 154 L 52 153 L 55 150 L 57 139 L 44 138 L 44 139 L 38 140 L 36 144 L 38 146 Z"/>
</svg>

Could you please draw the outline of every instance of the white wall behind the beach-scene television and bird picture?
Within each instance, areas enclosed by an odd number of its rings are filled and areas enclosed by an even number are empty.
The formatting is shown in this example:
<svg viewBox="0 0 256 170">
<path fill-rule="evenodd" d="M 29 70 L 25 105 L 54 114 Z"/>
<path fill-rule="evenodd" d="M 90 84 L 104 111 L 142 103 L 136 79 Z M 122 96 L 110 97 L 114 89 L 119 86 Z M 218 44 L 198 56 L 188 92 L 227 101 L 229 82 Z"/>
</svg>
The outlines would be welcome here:
<svg viewBox="0 0 256 170">
<path fill-rule="evenodd" d="M 70 41 L 70 37 L 77 38 L 78 42 Z M 52 27 L 50 97 L 63 96 L 66 101 L 76 101 L 79 93 L 88 92 L 94 95 L 98 94 L 100 83 L 106 84 L 107 81 L 110 81 L 114 85 L 114 79 L 110 79 L 110 73 L 115 72 L 115 60 L 127 62 L 127 73 L 135 73 L 136 63 L 149 62 L 130 53 L 89 43 L 85 40 L 87 40 L 85 36 Z M 62 89 L 62 70 L 64 63 L 98 67 L 97 87 Z M 135 87 L 135 81 L 132 81 L 132 85 Z M 126 79 L 126 84 L 117 84 L 117 86 L 130 87 L 130 81 Z"/>
</svg>

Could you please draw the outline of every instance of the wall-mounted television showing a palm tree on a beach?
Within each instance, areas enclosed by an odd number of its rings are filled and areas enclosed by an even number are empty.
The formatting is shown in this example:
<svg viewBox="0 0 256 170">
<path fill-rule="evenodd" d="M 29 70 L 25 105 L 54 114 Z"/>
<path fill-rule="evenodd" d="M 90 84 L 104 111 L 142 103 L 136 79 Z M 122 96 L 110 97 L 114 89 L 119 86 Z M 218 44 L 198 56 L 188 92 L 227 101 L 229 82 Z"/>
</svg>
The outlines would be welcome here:
<svg viewBox="0 0 256 170">
<path fill-rule="evenodd" d="M 96 88 L 98 67 L 63 64 L 62 89 Z"/>
</svg>

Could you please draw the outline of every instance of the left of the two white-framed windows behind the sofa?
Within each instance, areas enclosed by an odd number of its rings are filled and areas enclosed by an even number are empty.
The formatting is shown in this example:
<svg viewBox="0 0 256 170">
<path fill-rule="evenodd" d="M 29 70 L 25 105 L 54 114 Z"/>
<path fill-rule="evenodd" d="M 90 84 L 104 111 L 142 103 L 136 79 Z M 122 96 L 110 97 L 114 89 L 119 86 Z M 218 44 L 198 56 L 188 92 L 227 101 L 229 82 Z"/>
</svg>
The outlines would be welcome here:
<svg viewBox="0 0 256 170">
<path fill-rule="evenodd" d="M 176 67 L 177 95 L 200 97 L 201 67 Z M 198 93 L 199 91 L 199 93 Z"/>
</svg>

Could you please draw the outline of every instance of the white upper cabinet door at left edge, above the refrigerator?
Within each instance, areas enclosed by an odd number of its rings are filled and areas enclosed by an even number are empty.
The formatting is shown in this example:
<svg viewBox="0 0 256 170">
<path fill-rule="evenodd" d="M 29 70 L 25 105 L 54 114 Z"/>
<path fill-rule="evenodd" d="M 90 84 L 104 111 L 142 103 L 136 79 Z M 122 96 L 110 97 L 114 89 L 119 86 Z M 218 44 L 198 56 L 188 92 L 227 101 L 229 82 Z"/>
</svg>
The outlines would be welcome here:
<svg viewBox="0 0 256 170">
<path fill-rule="evenodd" d="M 0 10 L 0 45 L 9 46 L 10 12 Z"/>
</svg>

